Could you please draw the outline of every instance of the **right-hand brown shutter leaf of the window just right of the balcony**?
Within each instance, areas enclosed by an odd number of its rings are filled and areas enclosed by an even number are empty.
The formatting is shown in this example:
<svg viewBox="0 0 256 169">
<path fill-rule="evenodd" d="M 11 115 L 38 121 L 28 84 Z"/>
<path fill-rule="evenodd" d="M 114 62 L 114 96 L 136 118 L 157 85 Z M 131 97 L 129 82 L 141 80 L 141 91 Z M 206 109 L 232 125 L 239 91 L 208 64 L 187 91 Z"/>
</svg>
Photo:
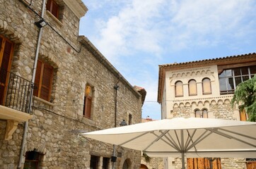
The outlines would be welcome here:
<svg viewBox="0 0 256 169">
<path fill-rule="evenodd" d="M 50 101 L 50 94 L 52 88 L 52 66 L 45 63 L 42 73 L 42 87 L 40 91 L 40 98 Z"/>
</svg>

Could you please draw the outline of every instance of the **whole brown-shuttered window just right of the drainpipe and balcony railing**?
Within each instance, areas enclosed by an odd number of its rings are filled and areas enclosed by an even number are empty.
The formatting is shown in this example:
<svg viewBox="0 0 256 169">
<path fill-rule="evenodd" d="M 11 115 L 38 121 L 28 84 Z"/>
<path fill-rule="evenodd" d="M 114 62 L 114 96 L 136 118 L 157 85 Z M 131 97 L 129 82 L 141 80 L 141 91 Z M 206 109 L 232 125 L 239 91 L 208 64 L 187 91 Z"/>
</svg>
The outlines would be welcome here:
<svg viewBox="0 0 256 169">
<path fill-rule="evenodd" d="M 37 61 L 37 70 L 35 73 L 34 96 L 50 101 L 52 90 L 53 68 L 51 65 L 42 61 Z"/>
</svg>

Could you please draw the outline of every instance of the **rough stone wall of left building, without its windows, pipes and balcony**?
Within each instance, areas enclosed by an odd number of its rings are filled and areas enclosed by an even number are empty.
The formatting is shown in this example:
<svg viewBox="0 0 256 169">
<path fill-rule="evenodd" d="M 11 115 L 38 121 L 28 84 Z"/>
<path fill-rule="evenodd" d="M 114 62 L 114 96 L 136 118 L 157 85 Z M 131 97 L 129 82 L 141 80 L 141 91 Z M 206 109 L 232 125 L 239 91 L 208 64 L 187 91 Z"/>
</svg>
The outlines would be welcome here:
<svg viewBox="0 0 256 169">
<path fill-rule="evenodd" d="M 45 11 L 48 25 L 42 27 L 39 59 L 54 68 L 50 101 L 35 97 L 33 118 L 28 121 L 21 169 L 27 151 L 40 153 L 40 169 L 90 168 L 91 155 L 110 158 L 113 146 L 86 139 L 78 134 L 117 127 L 124 119 L 141 122 L 141 94 L 83 36 L 78 36 L 79 20 L 87 8 L 81 0 L 58 0 L 60 18 Z M 0 0 L 0 34 L 13 42 L 11 72 L 32 80 L 37 49 L 42 1 Z M 111 45 L 111 44 L 110 44 Z M 93 89 L 91 118 L 83 116 L 86 84 Z M 114 86 L 118 84 L 117 91 Z M 117 92 L 117 93 L 116 93 Z M 116 101 L 116 107 L 115 107 Z M 115 109 L 116 108 L 116 109 Z M 116 113 L 116 116 L 115 116 Z M 131 118 L 132 117 L 132 118 Z M 6 120 L 0 120 L 0 168 L 18 168 L 25 123 L 18 123 L 12 138 L 4 140 Z M 117 147 L 115 168 L 128 161 L 139 168 L 140 151 Z"/>
</svg>

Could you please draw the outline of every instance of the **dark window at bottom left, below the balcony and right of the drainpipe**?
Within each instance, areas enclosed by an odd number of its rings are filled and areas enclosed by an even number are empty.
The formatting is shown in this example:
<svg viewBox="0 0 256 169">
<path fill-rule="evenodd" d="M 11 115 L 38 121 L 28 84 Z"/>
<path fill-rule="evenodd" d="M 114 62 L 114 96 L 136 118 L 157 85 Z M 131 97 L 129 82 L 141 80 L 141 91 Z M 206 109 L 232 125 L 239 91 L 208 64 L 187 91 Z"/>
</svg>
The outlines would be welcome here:
<svg viewBox="0 0 256 169">
<path fill-rule="evenodd" d="M 25 153 L 24 169 L 38 169 L 40 163 L 40 156 L 42 155 L 38 151 L 27 151 Z"/>
</svg>

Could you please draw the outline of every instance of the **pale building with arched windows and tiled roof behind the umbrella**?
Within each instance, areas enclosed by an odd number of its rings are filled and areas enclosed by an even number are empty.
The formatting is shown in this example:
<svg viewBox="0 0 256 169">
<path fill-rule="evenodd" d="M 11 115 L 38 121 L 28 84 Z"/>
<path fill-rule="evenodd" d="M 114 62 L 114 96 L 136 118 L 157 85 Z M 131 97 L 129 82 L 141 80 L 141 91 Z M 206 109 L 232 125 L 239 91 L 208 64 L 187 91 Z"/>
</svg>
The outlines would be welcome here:
<svg viewBox="0 0 256 169">
<path fill-rule="evenodd" d="M 256 54 L 159 65 L 158 103 L 162 118 L 195 117 L 246 120 L 231 106 L 235 87 L 256 74 Z M 249 159 L 217 158 L 215 168 L 249 168 Z M 205 163 L 206 158 L 187 158 Z M 247 163 L 248 162 L 248 163 Z M 166 158 L 165 168 L 180 168 L 180 158 Z M 208 163 L 208 162 L 207 162 Z M 207 166 L 202 166 L 207 168 Z"/>
</svg>

